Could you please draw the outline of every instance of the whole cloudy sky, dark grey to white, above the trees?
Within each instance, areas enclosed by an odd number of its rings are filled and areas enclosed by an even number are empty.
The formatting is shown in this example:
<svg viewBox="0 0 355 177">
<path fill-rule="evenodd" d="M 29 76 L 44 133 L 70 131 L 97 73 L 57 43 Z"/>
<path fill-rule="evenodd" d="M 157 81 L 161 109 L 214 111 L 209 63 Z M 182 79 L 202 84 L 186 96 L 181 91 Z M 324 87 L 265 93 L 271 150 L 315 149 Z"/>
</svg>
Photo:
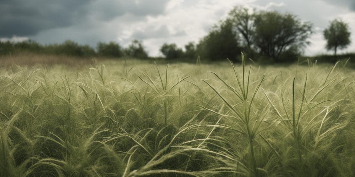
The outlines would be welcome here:
<svg viewBox="0 0 355 177">
<path fill-rule="evenodd" d="M 306 55 L 332 53 L 324 49 L 322 31 L 341 18 L 353 42 L 339 53 L 355 51 L 355 0 L 1 0 L 0 40 L 50 44 L 71 39 L 95 47 L 99 41 L 128 46 L 138 39 L 150 56 L 161 56 L 163 43 L 181 48 L 197 43 L 237 5 L 290 12 L 312 22 L 315 33 Z"/>
</svg>

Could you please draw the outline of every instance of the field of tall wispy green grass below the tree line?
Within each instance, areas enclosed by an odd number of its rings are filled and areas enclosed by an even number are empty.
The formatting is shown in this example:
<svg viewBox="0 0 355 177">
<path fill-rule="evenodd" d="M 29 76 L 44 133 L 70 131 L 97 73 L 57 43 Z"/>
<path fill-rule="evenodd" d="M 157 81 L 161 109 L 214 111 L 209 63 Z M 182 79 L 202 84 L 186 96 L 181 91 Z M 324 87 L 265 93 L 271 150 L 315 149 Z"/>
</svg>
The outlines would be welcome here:
<svg viewBox="0 0 355 177">
<path fill-rule="evenodd" d="M 353 69 L 234 67 L 2 65 L 0 174 L 355 176 Z"/>
</svg>

